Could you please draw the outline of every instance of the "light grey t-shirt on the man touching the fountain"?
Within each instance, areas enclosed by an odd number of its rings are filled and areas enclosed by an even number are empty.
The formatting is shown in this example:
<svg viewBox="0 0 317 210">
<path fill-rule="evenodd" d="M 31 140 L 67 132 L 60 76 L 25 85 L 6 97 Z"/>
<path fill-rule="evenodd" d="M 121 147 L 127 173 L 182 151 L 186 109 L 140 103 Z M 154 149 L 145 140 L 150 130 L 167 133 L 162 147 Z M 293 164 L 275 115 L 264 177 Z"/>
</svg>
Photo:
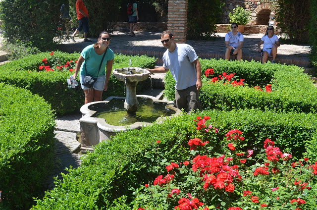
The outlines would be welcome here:
<svg viewBox="0 0 317 210">
<path fill-rule="evenodd" d="M 175 80 L 175 88 L 184 90 L 196 85 L 197 72 L 195 63 L 198 56 L 192 46 L 176 44 L 173 52 L 166 50 L 163 54 L 163 67 L 169 69 Z"/>
</svg>

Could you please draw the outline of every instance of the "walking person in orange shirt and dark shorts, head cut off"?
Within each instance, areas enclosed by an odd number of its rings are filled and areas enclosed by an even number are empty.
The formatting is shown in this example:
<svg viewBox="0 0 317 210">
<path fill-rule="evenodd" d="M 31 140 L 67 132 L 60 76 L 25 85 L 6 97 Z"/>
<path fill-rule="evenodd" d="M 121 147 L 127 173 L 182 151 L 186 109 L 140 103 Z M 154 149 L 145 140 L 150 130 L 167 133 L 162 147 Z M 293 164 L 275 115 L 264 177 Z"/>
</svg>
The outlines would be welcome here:
<svg viewBox="0 0 317 210">
<path fill-rule="evenodd" d="M 84 42 L 91 42 L 91 40 L 87 39 L 87 34 L 89 32 L 89 24 L 88 24 L 88 10 L 83 2 L 83 0 L 76 1 L 76 13 L 77 19 L 79 21 L 79 26 L 76 31 L 73 33 L 72 40 L 75 42 L 75 35 L 84 29 Z"/>
</svg>

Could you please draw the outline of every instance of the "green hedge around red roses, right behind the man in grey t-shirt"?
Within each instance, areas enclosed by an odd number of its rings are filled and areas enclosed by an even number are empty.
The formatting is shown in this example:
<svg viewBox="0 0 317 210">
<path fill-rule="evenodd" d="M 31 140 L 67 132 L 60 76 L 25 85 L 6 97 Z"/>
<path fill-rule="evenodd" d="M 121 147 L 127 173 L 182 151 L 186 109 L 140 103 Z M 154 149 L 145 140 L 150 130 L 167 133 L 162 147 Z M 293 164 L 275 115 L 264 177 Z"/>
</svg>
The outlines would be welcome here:
<svg viewBox="0 0 317 210">
<path fill-rule="evenodd" d="M 259 108 L 272 111 L 295 111 L 316 113 L 317 89 L 303 69 L 297 66 L 281 64 L 261 64 L 255 61 L 226 61 L 202 59 L 202 74 L 213 68 L 217 77 L 222 72 L 235 73 L 239 79 L 245 79 L 247 86 L 213 84 L 203 76 L 200 100 L 204 109 L 216 108 Z M 271 84 L 272 92 L 265 92 L 265 85 Z M 174 80 L 170 73 L 165 77 L 165 93 L 169 100 L 174 99 Z M 264 91 L 254 89 L 260 86 Z"/>
</svg>

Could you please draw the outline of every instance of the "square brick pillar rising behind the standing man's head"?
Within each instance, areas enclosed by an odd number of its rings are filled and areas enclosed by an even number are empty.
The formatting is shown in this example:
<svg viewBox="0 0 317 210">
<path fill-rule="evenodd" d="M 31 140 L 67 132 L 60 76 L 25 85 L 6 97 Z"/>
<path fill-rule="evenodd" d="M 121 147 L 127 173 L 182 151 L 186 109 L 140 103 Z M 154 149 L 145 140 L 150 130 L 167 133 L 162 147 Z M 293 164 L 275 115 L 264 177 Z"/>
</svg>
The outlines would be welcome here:
<svg viewBox="0 0 317 210">
<path fill-rule="evenodd" d="M 167 28 L 176 43 L 186 43 L 188 0 L 168 0 Z"/>
</svg>

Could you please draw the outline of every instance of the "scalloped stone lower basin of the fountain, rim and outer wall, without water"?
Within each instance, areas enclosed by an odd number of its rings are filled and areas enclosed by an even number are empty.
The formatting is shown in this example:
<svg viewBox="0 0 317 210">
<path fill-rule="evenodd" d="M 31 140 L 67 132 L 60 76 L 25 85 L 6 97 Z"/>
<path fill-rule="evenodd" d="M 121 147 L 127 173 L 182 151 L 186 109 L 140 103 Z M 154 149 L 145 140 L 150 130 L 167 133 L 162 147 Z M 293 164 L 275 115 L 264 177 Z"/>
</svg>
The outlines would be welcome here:
<svg viewBox="0 0 317 210">
<path fill-rule="evenodd" d="M 174 103 L 171 101 L 158 100 L 152 96 L 146 95 L 138 95 L 137 97 L 145 97 L 153 100 L 153 103 L 166 103 L 165 107 L 175 111 L 175 115 L 179 115 L 181 112 L 180 109 L 174 107 Z M 100 103 L 109 103 L 113 99 L 121 99 L 124 100 L 124 97 L 108 97 L 105 101 L 100 102 L 92 102 L 86 105 L 83 105 L 80 108 L 82 113 L 82 118 L 79 120 L 80 131 L 81 131 L 81 151 L 84 153 L 85 151 L 93 151 L 93 146 L 97 145 L 102 141 L 107 141 L 111 139 L 118 132 L 125 132 L 132 129 L 141 129 L 144 126 L 152 124 L 151 122 L 141 122 L 137 121 L 133 124 L 127 126 L 119 126 L 119 125 L 110 125 L 106 122 L 104 118 L 93 117 L 93 115 L 97 112 L 95 110 L 91 110 L 89 107 L 91 105 L 98 105 Z M 164 116 L 158 117 L 155 121 L 161 123 L 162 121 L 168 119 L 172 116 Z"/>
</svg>

